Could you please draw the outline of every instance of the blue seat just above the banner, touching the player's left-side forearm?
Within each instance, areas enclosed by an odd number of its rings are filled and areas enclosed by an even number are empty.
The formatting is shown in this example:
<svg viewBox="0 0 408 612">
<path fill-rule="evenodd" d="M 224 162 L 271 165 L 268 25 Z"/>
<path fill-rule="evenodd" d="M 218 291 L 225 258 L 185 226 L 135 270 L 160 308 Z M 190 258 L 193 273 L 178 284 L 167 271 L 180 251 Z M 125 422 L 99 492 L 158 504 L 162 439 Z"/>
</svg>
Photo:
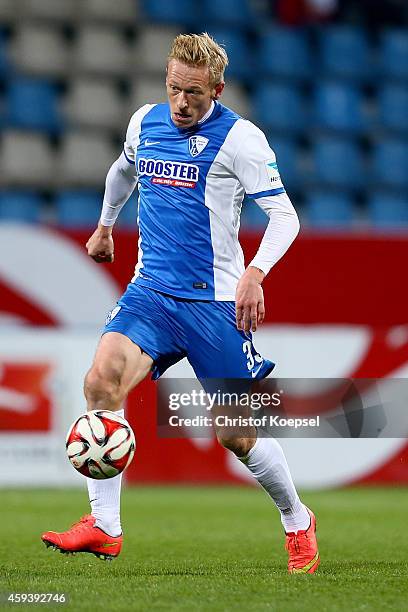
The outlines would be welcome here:
<svg viewBox="0 0 408 612">
<path fill-rule="evenodd" d="M 62 191 L 56 197 L 56 221 L 63 227 L 96 227 L 101 204 L 98 191 Z"/>
</svg>

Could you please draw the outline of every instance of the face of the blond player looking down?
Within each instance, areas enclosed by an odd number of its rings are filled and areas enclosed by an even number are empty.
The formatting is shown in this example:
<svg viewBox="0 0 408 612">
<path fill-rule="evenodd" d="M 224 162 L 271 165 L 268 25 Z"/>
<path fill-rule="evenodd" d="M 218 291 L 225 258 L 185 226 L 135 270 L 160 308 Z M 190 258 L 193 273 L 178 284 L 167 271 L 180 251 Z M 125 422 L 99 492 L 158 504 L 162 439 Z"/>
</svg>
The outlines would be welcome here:
<svg viewBox="0 0 408 612">
<path fill-rule="evenodd" d="M 170 60 L 166 77 L 171 118 L 177 127 L 193 127 L 220 97 L 224 83 L 210 86 L 207 66 L 188 66 Z"/>
</svg>

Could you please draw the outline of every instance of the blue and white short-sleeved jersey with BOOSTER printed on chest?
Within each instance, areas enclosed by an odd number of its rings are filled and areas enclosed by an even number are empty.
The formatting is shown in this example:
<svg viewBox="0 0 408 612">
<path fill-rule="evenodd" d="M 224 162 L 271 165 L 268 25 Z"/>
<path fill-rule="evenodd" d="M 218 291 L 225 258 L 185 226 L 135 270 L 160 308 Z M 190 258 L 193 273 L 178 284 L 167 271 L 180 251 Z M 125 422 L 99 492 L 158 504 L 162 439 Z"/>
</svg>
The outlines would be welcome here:
<svg viewBox="0 0 408 612">
<path fill-rule="evenodd" d="M 235 300 L 244 195 L 284 192 L 263 132 L 217 102 L 192 128 L 177 128 L 168 104 L 146 104 L 130 120 L 124 152 L 139 187 L 132 282 L 189 300 Z"/>
</svg>

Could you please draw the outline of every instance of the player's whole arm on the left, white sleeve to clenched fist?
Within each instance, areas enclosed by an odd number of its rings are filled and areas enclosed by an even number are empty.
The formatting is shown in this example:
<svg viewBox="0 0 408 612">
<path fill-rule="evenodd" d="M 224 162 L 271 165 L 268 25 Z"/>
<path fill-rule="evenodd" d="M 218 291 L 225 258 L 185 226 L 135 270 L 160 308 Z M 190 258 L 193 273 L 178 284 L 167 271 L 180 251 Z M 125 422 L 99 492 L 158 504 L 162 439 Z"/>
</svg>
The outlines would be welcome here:
<svg viewBox="0 0 408 612">
<path fill-rule="evenodd" d="M 120 211 L 137 184 L 136 149 L 139 144 L 141 121 L 150 108 L 152 105 L 146 104 L 132 115 L 123 153 L 112 164 L 106 176 L 101 217 L 98 227 L 86 243 L 88 255 L 98 263 L 110 263 L 114 259 L 112 230 Z"/>
</svg>

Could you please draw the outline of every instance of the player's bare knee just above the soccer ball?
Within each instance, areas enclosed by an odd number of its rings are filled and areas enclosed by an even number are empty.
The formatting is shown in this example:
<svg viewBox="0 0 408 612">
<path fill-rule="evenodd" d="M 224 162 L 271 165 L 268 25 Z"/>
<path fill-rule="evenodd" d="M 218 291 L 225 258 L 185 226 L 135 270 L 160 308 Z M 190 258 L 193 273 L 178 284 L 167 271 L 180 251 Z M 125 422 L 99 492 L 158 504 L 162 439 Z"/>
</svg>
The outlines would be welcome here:
<svg viewBox="0 0 408 612">
<path fill-rule="evenodd" d="M 104 373 L 97 367 L 91 368 L 86 375 L 84 392 L 91 409 L 109 409 L 125 399 L 119 373 Z"/>
</svg>

